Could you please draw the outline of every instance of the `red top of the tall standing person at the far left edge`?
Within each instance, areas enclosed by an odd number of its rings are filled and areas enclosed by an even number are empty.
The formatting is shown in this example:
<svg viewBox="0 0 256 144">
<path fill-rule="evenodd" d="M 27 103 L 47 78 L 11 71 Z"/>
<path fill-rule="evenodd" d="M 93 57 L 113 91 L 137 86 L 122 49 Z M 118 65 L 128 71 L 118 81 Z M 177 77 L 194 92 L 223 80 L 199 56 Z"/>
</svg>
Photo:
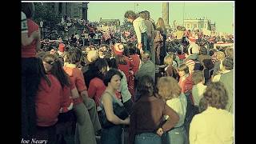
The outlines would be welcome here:
<svg viewBox="0 0 256 144">
<path fill-rule="evenodd" d="M 28 36 L 32 34 L 34 31 L 39 30 L 39 26 L 37 23 L 33 22 L 31 19 L 27 19 L 27 26 L 28 26 Z M 22 58 L 33 58 L 36 56 L 37 40 L 34 39 L 33 42 L 30 43 L 28 46 L 22 46 Z"/>
</svg>

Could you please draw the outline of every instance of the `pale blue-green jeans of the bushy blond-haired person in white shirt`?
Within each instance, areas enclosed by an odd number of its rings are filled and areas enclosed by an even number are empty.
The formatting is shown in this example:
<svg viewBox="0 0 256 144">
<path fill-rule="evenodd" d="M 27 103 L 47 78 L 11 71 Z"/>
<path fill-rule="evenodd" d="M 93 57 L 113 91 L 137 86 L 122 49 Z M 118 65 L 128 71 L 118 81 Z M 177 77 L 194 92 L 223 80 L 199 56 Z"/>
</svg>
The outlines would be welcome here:
<svg viewBox="0 0 256 144">
<path fill-rule="evenodd" d="M 184 126 L 174 128 L 170 130 L 165 135 L 162 136 L 164 141 L 163 144 L 188 144 L 188 135 Z"/>
</svg>

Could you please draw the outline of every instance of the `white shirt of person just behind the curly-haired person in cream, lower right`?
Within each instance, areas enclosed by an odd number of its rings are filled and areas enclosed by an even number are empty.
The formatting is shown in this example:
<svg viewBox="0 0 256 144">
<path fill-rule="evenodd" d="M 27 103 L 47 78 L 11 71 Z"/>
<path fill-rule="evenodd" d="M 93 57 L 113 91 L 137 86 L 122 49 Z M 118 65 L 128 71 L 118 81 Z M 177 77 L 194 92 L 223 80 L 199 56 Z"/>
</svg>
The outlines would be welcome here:
<svg viewBox="0 0 256 144">
<path fill-rule="evenodd" d="M 206 87 L 207 86 L 203 85 L 202 83 L 198 83 L 192 87 L 192 96 L 194 98 L 195 106 L 199 106 L 200 99 L 203 97 L 202 94 L 205 92 Z"/>
</svg>

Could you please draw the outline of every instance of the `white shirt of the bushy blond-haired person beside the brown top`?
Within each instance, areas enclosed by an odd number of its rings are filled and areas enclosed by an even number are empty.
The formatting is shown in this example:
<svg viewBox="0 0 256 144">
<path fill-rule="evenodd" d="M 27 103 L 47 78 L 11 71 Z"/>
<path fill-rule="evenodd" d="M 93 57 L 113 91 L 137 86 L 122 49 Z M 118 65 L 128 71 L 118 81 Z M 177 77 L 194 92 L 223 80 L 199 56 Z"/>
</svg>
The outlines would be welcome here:
<svg viewBox="0 0 256 144">
<path fill-rule="evenodd" d="M 174 109 L 174 111 L 178 114 L 179 117 L 179 121 L 176 124 L 176 126 L 174 127 L 179 127 L 182 126 L 184 123 L 184 119 L 186 117 L 186 106 L 187 106 L 187 102 L 186 102 L 186 96 L 185 94 L 181 93 L 178 98 L 172 98 L 168 101 L 166 101 L 167 106 L 170 106 L 172 109 Z M 166 119 L 169 116 L 166 115 Z"/>
</svg>

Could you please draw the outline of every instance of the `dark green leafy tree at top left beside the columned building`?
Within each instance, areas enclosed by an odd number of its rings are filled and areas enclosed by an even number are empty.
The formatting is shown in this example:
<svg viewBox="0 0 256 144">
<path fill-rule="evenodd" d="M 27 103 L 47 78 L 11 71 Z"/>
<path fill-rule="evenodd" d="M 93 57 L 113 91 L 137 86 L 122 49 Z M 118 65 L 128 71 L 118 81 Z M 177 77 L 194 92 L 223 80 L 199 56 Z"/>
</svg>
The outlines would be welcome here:
<svg viewBox="0 0 256 144">
<path fill-rule="evenodd" d="M 50 30 L 58 30 L 58 23 L 61 21 L 61 15 L 55 14 L 51 7 L 53 3 L 34 2 L 34 21 L 38 24 L 43 21 L 44 27 Z"/>
</svg>

